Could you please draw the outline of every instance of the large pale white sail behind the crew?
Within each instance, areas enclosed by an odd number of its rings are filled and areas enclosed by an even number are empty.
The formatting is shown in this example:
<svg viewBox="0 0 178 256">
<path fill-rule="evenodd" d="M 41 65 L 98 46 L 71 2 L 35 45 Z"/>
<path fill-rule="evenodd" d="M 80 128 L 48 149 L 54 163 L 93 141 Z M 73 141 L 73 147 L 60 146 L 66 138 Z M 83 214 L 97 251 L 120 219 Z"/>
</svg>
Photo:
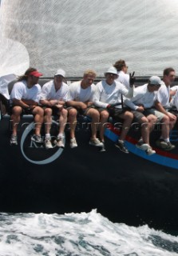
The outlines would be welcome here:
<svg viewBox="0 0 178 256">
<path fill-rule="evenodd" d="M 177 22 L 177 0 L 2 0 L 0 71 L 103 76 L 122 58 L 136 75 L 161 75 L 177 69 Z"/>
</svg>

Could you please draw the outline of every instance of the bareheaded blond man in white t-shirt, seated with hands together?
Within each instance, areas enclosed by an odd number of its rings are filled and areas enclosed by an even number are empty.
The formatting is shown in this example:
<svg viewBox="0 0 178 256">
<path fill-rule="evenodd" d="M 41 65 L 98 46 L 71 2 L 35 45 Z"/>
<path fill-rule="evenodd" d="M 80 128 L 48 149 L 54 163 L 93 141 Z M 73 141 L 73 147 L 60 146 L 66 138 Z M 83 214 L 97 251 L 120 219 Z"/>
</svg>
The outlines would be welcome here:
<svg viewBox="0 0 178 256">
<path fill-rule="evenodd" d="M 92 146 L 103 146 L 97 138 L 97 126 L 100 120 L 99 112 L 93 107 L 93 94 L 96 86 L 93 84 L 96 73 L 93 70 L 86 70 L 81 81 L 73 82 L 69 86 L 67 106 L 70 123 L 70 147 L 77 146 L 75 128 L 77 125 L 77 113 L 89 116 L 91 121 L 91 138 L 89 144 Z"/>
</svg>

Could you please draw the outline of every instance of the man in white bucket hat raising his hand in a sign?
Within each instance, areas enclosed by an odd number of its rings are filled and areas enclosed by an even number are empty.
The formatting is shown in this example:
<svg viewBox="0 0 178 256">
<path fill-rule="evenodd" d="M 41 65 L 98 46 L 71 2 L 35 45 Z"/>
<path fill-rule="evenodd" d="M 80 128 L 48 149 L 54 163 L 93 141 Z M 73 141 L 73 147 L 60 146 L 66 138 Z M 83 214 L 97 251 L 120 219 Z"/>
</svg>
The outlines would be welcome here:
<svg viewBox="0 0 178 256">
<path fill-rule="evenodd" d="M 105 80 L 97 83 L 97 90 L 94 95 L 94 104 L 97 106 L 97 109 L 101 114 L 101 142 L 105 142 L 105 123 L 108 122 L 109 115 L 113 118 L 121 118 L 124 120 L 121 136 L 115 145 L 122 152 L 129 153 L 129 150 L 125 147 L 124 141 L 133 121 L 133 113 L 121 108 L 121 94 L 125 95 L 125 97 L 132 98 L 133 86 L 129 86 L 129 90 L 127 90 L 121 82 L 115 81 L 117 77 L 117 69 L 113 66 L 110 67 L 105 73 Z M 112 107 L 112 104 L 117 103 L 120 104 L 120 106 Z"/>
</svg>

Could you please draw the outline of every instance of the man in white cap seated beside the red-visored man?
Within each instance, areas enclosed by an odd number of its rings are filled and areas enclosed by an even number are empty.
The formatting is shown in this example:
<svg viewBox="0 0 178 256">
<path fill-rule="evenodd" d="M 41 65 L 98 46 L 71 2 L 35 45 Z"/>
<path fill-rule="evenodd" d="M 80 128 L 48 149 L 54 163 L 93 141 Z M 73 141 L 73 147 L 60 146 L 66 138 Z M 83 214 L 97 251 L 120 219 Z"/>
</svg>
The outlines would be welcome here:
<svg viewBox="0 0 178 256">
<path fill-rule="evenodd" d="M 67 110 L 65 109 L 65 101 L 69 86 L 64 82 L 65 71 L 57 70 L 53 80 L 46 82 L 42 86 L 40 94 L 40 103 L 45 111 L 45 148 L 53 148 L 51 143 L 50 129 L 52 123 L 52 114 L 59 115 L 59 131 L 57 134 L 57 146 L 65 147 L 65 124 L 67 122 Z"/>
</svg>

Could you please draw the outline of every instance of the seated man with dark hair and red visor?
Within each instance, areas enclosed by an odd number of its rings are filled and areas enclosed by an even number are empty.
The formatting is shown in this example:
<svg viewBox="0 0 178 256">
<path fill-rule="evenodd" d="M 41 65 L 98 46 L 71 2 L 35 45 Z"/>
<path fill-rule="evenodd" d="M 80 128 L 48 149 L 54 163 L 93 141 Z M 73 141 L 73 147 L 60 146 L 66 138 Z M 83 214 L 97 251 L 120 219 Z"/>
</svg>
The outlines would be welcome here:
<svg viewBox="0 0 178 256">
<path fill-rule="evenodd" d="M 40 132 L 44 111 L 38 106 L 41 91 L 41 86 L 38 84 L 40 76 L 42 76 L 42 73 L 30 67 L 24 75 L 18 78 L 18 82 L 14 84 L 10 94 L 10 104 L 12 106 L 10 145 L 18 145 L 17 130 L 22 113 L 34 115 L 35 129 L 34 136 L 31 139 L 34 142 L 42 143 Z"/>
</svg>

